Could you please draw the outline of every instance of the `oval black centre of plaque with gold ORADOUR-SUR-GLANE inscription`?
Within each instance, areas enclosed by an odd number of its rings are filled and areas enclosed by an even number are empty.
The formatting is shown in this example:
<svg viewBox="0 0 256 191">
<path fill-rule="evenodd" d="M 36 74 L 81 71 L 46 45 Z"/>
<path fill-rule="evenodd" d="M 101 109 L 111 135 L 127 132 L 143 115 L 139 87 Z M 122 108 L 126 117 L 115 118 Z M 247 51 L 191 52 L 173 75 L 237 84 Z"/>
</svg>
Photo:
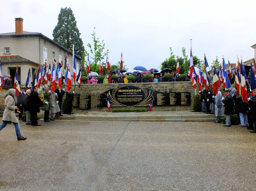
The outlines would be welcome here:
<svg viewBox="0 0 256 191">
<path fill-rule="evenodd" d="M 116 100 L 120 104 L 135 105 L 144 99 L 144 92 L 139 87 L 125 86 L 116 91 Z"/>
</svg>

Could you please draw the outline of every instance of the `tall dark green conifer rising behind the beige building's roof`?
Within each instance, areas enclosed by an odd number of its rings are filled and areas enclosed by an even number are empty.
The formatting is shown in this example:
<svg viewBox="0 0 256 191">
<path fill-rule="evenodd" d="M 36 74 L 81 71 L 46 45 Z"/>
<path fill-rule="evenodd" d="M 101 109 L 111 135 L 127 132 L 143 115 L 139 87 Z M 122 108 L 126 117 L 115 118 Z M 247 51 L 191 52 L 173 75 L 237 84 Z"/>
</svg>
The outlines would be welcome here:
<svg viewBox="0 0 256 191">
<path fill-rule="evenodd" d="M 58 23 L 53 30 L 53 40 L 61 46 L 73 51 L 73 44 L 75 47 L 75 54 L 82 57 L 83 55 L 83 41 L 80 38 L 80 32 L 76 26 L 76 19 L 71 8 L 61 8 L 58 17 Z"/>
</svg>

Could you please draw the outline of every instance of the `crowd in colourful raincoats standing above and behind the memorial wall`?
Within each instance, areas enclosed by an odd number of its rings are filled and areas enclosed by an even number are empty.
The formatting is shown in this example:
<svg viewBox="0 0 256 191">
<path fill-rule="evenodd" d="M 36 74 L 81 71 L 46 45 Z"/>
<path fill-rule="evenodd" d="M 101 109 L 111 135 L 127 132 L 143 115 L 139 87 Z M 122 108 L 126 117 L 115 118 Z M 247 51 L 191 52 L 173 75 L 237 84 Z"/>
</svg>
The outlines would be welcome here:
<svg viewBox="0 0 256 191">
<path fill-rule="evenodd" d="M 172 79 L 164 79 L 164 75 L 170 73 L 173 75 Z M 167 73 L 154 73 L 154 71 L 151 71 L 149 74 L 151 74 L 151 78 L 150 79 L 146 79 L 144 78 L 144 75 L 142 73 L 139 72 L 134 72 L 132 74 L 122 74 L 120 72 L 120 70 L 117 71 L 116 75 L 116 79 L 111 79 L 111 74 L 106 73 L 106 75 L 104 76 L 103 81 L 101 80 L 97 80 L 97 78 L 95 76 L 90 77 L 87 76 L 87 81 L 86 84 L 95 84 L 95 83 L 128 83 L 129 80 L 127 79 L 128 75 L 134 75 L 135 76 L 135 80 L 133 81 L 134 83 L 143 83 L 143 82 L 178 82 L 181 81 L 179 78 L 180 74 L 176 74 L 174 75 L 173 72 L 167 72 Z M 190 77 L 188 75 L 188 73 L 186 73 L 186 78 L 184 81 L 189 81 Z"/>
</svg>

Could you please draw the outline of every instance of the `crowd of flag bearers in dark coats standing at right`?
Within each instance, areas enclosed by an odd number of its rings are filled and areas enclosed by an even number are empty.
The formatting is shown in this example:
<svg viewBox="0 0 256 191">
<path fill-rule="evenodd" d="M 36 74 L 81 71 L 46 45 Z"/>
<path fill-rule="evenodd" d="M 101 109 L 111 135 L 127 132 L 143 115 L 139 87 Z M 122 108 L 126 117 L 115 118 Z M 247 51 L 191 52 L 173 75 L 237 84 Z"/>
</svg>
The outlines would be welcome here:
<svg viewBox="0 0 256 191">
<path fill-rule="evenodd" d="M 235 88 L 224 91 L 225 98 L 220 89 L 214 95 L 212 90 L 203 89 L 199 91 L 202 103 L 202 112 L 215 114 L 216 123 L 220 123 L 225 114 L 226 123 L 223 126 L 231 126 L 230 115 L 236 115 L 241 127 L 256 133 L 256 89 L 248 91 L 248 103 L 245 102 L 239 91 Z M 225 107 L 223 107 L 223 104 Z"/>
</svg>

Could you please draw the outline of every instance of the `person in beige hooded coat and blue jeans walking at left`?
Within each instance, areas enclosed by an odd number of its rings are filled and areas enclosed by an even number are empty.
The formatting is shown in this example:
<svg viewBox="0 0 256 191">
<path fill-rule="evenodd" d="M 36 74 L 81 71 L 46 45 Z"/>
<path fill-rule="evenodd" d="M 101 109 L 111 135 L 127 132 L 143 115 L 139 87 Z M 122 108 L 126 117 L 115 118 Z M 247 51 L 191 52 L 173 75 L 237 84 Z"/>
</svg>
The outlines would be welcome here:
<svg viewBox="0 0 256 191">
<path fill-rule="evenodd" d="M 9 89 L 8 95 L 5 97 L 4 114 L 2 119 L 3 123 L 0 125 L 0 130 L 2 130 L 7 124 L 13 123 L 15 126 L 17 139 L 25 140 L 27 139 L 27 137 L 23 137 L 20 135 L 19 120 L 15 115 L 15 110 L 18 110 L 18 107 L 15 106 L 15 100 L 14 100 L 15 92 L 16 92 L 15 89 Z"/>
</svg>

